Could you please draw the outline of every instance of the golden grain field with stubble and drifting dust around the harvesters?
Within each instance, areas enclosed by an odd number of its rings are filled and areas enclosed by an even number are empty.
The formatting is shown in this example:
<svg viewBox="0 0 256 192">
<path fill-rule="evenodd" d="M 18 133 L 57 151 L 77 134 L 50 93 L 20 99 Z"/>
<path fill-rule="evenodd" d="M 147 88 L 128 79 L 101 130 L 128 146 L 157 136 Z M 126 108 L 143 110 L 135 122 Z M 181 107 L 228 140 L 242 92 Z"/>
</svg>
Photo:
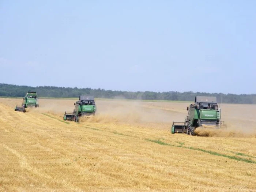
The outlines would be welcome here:
<svg viewBox="0 0 256 192">
<path fill-rule="evenodd" d="M 222 104 L 227 128 L 171 134 L 189 103 L 97 100 L 97 116 L 63 121 L 73 99 L 0 98 L 0 191 L 256 191 L 256 105 Z"/>
</svg>

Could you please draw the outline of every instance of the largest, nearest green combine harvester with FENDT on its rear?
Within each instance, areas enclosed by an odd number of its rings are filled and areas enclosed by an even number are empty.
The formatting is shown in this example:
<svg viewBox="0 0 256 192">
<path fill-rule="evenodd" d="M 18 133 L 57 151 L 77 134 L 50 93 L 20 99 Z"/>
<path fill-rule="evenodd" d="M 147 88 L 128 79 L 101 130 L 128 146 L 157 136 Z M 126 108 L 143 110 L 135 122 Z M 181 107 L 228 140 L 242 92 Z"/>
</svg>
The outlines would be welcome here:
<svg viewBox="0 0 256 192">
<path fill-rule="evenodd" d="M 221 128 L 221 108 L 217 97 L 196 96 L 195 103 L 187 107 L 188 115 L 184 122 L 173 122 L 172 133 L 196 135 L 195 129 L 200 126 Z"/>
</svg>

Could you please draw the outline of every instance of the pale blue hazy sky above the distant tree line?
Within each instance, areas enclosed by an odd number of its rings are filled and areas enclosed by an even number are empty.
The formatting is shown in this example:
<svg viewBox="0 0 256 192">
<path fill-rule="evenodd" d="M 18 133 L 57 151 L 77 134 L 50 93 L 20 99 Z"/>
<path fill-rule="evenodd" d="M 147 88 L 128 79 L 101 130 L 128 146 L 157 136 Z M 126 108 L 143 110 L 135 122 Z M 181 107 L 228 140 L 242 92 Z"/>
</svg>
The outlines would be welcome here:
<svg viewBox="0 0 256 192">
<path fill-rule="evenodd" d="M 0 0 L 0 83 L 256 93 L 256 1 Z"/>
</svg>

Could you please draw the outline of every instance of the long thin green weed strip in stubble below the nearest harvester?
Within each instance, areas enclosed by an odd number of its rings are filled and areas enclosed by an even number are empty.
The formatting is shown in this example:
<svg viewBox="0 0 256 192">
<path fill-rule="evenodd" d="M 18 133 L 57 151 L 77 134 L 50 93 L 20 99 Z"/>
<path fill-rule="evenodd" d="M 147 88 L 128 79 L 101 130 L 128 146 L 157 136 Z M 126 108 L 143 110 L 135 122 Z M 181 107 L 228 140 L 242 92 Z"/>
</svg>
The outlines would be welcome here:
<svg viewBox="0 0 256 192">
<path fill-rule="evenodd" d="M 196 151 L 202 151 L 204 153 L 208 153 L 208 154 L 211 154 L 211 155 L 226 157 L 226 158 L 234 159 L 234 160 L 237 160 L 237 161 L 244 161 L 246 163 L 256 163 L 256 161 L 252 161 L 251 159 L 244 159 L 244 158 L 239 158 L 239 157 L 236 157 L 236 156 L 220 154 L 220 153 L 217 153 L 217 152 L 214 152 L 214 151 L 208 151 L 208 150 L 204 150 L 204 149 L 201 149 L 201 148 L 184 147 L 181 144 L 177 146 L 177 145 L 173 145 L 173 144 L 162 142 L 161 140 L 152 140 L 152 139 L 146 139 L 146 140 L 148 140 L 150 142 L 153 142 L 153 143 L 160 144 L 160 145 L 166 145 L 166 146 L 172 146 L 172 147 L 181 147 L 181 148 L 186 148 L 186 149 L 191 149 L 191 150 L 196 150 Z"/>
</svg>

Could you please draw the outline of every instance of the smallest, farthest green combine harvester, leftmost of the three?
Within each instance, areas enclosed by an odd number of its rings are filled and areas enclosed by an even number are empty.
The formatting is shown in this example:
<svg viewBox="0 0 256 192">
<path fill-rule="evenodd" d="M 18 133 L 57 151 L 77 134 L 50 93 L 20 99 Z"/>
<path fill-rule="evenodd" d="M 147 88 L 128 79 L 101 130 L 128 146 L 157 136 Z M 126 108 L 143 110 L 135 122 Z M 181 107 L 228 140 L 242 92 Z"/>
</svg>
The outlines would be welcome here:
<svg viewBox="0 0 256 192">
<path fill-rule="evenodd" d="M 37 92 L 28 91 L 25 97 L 23 98 L 22 105 L 16 105 L 14 110 L 26 112 L 27 107 L 29 108 L 39 107 Z"/>
</svg>

